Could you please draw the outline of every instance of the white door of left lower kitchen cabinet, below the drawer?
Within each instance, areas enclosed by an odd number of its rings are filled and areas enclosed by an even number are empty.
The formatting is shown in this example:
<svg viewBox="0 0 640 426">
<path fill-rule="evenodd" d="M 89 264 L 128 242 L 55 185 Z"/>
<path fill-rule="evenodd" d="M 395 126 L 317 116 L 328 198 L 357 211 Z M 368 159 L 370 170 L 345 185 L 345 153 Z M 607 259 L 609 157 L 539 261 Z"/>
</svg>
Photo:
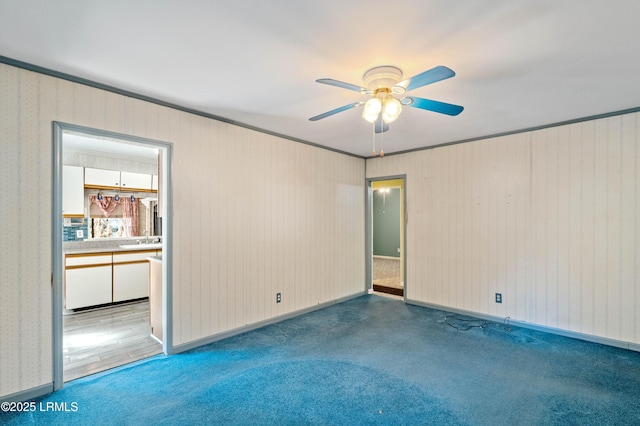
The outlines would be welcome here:
<svg viewBox="0 0 640 426">
<path fill-rule="evenodd" d="M 77 309 L 111 303 L 111 265 L 65 271 L 65 308 Z"/>
</svg>

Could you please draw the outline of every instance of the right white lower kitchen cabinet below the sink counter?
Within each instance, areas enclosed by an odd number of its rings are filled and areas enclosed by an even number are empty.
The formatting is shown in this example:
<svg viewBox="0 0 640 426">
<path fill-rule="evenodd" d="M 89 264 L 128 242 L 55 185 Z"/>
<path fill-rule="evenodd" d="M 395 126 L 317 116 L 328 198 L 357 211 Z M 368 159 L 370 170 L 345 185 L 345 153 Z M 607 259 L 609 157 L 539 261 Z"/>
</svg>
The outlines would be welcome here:
<svg viewBox="0 0 640 426">
<path fill-rule="evenodd" d="M 113 301 L 149 297 L 149 261 L 155 251 L 113 254 Z"/>
</svg>

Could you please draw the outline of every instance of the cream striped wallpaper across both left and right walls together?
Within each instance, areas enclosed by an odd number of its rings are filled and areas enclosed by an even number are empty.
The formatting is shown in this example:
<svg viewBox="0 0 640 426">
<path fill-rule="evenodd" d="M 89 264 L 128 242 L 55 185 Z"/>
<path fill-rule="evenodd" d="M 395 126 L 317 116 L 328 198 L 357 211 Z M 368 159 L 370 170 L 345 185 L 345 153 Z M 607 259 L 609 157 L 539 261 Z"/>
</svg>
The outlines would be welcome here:
<svg viewBox="0 0 640 426">
<path fill-rule="evenodd" d="M 174 144 L 174 344 L 364 290 L 364 160 L 3 64 L 0 94 L 0 397 L 52 380 L 54 120 Z M 407 297 L 640 344 L 639 120 L 367 160 L 407 176 Z"/>
</svg>

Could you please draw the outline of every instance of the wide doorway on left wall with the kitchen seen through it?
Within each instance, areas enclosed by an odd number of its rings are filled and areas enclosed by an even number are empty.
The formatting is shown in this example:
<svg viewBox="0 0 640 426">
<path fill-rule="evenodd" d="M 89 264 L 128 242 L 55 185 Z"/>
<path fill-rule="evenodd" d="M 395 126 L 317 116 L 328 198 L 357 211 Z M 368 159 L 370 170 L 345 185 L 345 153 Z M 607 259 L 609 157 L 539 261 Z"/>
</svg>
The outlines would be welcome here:
<svg viewBox="0 0 640 426">
<path fill-rule="evenodd" d="M 171 145 L 54 123 L 54 388 L 171 352 Z"/>
</svg>

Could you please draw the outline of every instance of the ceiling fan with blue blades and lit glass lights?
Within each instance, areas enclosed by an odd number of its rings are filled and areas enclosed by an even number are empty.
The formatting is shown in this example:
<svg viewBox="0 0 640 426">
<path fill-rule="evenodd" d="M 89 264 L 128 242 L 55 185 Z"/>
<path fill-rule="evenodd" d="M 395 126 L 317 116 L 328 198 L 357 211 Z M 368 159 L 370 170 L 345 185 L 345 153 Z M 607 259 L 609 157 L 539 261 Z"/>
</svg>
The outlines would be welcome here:
<svg viewBox="0 0 640 426">
<path fill-rule="evenodd" d="M 446 80 L 455 76 L 456 73 L 445 66 L 437 66 L 424 71 L 411 78 L 402 80 L 402 70 L 391 65 L 374 67 L 362 76 L 363 86 L 345 83 L 332 78 L 321 78 L 318 83 L 330 86 L 342 87 L 353 90 L 363 95 L 372 96 L 366 102 L 359 101 L 341 106 L 323 114 L 311 117 L 309 120 L 317 121 L 331 115 L 337 114 L 351 108 L 364 106 L 362 117 L 370 123 L 375 124 L 375 132 L 382 133 L 389 130 L 389 123 L 395 121 L 402 112 L 402 106 L 420 108 L 427 111 L 438 112 L 440 114 L 458 115 L 464 109 L 459 105 L 444 102 L 432 101 L 430 99 L 418 98 L 416 96 L 405 96 L 397 99 L 394 95 L 402 95 L 413 89 L 417 89 L 428 84 Z"/>
</svg>

